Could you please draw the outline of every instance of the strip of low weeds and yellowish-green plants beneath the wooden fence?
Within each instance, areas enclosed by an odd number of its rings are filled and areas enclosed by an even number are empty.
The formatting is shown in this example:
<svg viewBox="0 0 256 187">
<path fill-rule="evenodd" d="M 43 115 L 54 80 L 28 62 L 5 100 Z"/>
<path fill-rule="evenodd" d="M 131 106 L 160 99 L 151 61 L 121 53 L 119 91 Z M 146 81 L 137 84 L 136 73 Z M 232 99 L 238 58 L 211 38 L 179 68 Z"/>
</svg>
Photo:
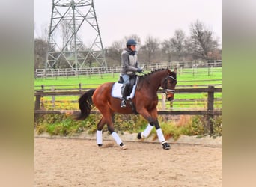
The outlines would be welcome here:
<svg viewBox="0 0 256 187">
<path fill-rule="evenodd" d="M 177 123 L 169 120 L 168 116 L 159 116 L 159 123 L 165 138 L 177 138 L 180 135 L 205 135 L 204 126 L 207 124 L 204 116 L 180 116 Z M 85 120 L 74 120 L 70 114 L 44 114 L 36 120 L 36 132 L 43 132 L 49 135 L 74 135 L 80 132 L 95 133 L 97 131 L 97 123 L 99 123 L 101 115 L 91 114 Z M 121 115 L 117 114 L 114 118 L 115 131 L 117 132 L 142 132 L 147 126 L 147 120 L 141 115 Z M 222 117 L 214 117 L 213 119 L 213 137 L 222 135 Z M 103 131 L 107 131 L 104 126 Z M 153 128 L 151 132 L 156 136 L 156 130 Z"/>
</svg>

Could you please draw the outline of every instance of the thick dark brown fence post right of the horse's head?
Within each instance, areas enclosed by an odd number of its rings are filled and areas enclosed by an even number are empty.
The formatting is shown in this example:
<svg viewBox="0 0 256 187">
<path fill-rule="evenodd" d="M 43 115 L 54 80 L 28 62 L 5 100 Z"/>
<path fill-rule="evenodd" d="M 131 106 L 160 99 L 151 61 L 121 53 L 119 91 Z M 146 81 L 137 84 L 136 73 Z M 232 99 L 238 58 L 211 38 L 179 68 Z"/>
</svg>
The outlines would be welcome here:
<svg viewBox="0 0 256 187">
<path fill-rule="evenodd" d="M 208 88 L 214 88 L 214 86 L 208 86 Z M 208 91 L 207 98 L 207 131 L 210 132 L 210 135 L 213 134 L 213 114 L 210 114 L 213 111 L 214 105 L 214 91 Z"/>
</svg>

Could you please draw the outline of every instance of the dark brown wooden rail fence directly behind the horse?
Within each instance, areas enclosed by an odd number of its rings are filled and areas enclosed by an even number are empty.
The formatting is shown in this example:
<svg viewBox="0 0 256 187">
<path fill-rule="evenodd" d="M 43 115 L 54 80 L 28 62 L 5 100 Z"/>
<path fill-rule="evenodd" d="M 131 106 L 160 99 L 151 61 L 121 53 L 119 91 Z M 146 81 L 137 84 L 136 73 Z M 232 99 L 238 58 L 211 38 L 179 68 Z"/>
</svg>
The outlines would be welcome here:
<svg viewBox="0 0 256 187">
<path fill-rule="evenodd" d="M 34 93 L 35 96 L 35 104 L 34 104 L 34 114 L 64 114 L 64 113 L 73 113 L 78 114 L 79 111 L 66 111 L 66 110 L 43 110 L 41 108 L 41 98 L 42 96 L 80 96 L 85 91 L 36 91 Z M 198 110 L 187 110 L 187 111 L 158 111 L 159 115 L 206 115 L 207 116 L 207 131 L 210 134 L 213 133 L 213 120 L 215 115 L 222 115 L 222 111 L 218 111 L 214 109 L 214 93 L 222 92 L 222 88 L 214 88 L 213 86 L 209 86 L 208 88 L 177 88 L 175 93 L 207 93 L 207 110 L 198 111 Z M 159 90 L 159 93 L 162 93 Z M 165 94 L 163 94 L 165 95 Z M 162 96 L 162 105 L 165 105 L 165 97 Z M 91 111 L 91 114 L 100 114 L 99 111 Z"/>
</svg>

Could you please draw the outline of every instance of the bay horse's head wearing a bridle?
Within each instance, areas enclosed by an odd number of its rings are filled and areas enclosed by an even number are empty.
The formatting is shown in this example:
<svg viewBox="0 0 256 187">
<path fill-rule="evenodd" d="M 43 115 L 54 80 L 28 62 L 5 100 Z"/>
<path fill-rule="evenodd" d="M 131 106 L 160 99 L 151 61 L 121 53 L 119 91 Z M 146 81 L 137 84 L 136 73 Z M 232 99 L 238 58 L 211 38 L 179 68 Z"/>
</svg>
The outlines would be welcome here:
<svg viewBox="0 0 256 187">
<path fill-rule="evenodd" d="M 177 84 L 177 68 L 174 69 L 174 71 L 168 70 L 168 75 L 165 77 L 164 81 L 162 82 L 161 87 L 164 89 L 164 92 L 166 94 L 166 99 L 168 101 L 172 101 L 174 99 L 174 93 L 175 93 L 175 86 Z"/>
</svg>

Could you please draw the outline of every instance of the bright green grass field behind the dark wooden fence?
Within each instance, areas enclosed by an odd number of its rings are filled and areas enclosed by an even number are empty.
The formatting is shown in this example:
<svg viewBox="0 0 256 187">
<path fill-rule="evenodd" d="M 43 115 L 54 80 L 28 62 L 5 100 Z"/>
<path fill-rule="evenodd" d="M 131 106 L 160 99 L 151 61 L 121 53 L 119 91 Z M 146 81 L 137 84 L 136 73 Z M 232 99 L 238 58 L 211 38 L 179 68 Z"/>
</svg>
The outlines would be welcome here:
<svg viewBox="0 0 256 187">
<path fill-rule="evenodd" d="M 71 76 L 71 77 L 49 77 L 47 79 L 40 78 L 34 80 L 34 89 L 40 90 L 41 85 L 44 85 L 44 88 L 47 91 L 52 89 L 54 86 L 55 90 L 58 89 L 79 89 L 79 84 L 82 84 L 82 88 L 97 88 L 99 85 L 105 82 L 117 82 L 119 79 L 119 73 L 115 73 L 114 76 L 112 73 L 106 73 L 99 75 L 91 75 L 91 76 Z M 207 80 L 207 81 L 205 81 Z M 207 85 L 213 84 L 222 84 L 222 68 L 216 67 L 213 70 L 210 70 L 210 74 L 208 75 L 207 68 L 198 68 L 198 70 L 194 70 L 194 74 L 192 69 L 183 69 L 178 71 L 177 74 L 177 86 L 176 88 L 184 88 L 180 86 L 187 85 L 187 88 L 199 88 L 200 85 L 205 85 L 204 88 L 207 88 Z M 221 86 L 218 86 L 221 87 Z M 186 88 L 186 87 L 185 87 Z M 200 87 L 202 88 L 202 87 Z M 175 99 L 204 99 L 207 101 L 207 93 L 176 93 Z M 222 93 L 215 93 L 215 98 L 221 98 Z M 159 94 L 159 98 L 161 98 L 161 94 Z M 77 103 L 70 103 L 70 101 L 77 101 L 79 96 L 55 96 L 55 108 L 57 109 L 78 109 Z M 52 96 L 44 96 L 43 101 L 50 102 L 52 100 Z M 62 103 L 60 103 L 62 102 Z M 69 104 L 68 104 L 69 103 Z M 170 108 L 169 102 L 166 102 L 166 108 Z M 69 105 L 69 106 L 66 106 Z M 51 103 L 45 104 L 46 108 L 52 109 Z M 206 107 L 205 102 L 189 102 L 189 101 L 174 101 L 174 108 L 204 108 Z M 215 108 L 221 108 L 222 102 L 216 102 Z"/>
</svg>

